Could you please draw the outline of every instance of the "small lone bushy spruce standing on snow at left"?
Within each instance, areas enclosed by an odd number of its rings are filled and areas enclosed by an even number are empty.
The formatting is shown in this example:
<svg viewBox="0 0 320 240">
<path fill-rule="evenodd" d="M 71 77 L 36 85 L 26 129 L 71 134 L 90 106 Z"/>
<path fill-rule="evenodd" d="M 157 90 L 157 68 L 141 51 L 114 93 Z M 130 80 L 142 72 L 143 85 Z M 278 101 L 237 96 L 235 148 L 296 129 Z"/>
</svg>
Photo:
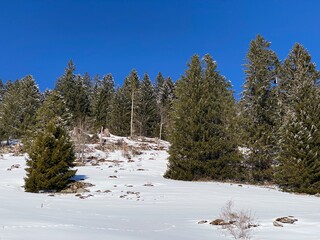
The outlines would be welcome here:
<svg viewBox="0 0 320 240">
<path fill-rule="evenodd" d="M 28 154 L 27 192 L 60 191 L 76 173 L 70 170 L 75 160 L 72 143 L 57 119 L 50 121 L 45 131 L 34 139 Z"/>
</svg>

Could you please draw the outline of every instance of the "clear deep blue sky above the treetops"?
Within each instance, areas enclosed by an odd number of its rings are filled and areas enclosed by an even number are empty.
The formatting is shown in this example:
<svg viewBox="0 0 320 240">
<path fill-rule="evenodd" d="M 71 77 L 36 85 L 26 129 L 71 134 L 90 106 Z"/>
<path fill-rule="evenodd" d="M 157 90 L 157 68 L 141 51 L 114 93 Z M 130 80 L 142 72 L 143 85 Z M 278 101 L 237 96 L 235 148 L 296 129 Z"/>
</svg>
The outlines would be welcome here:
<svg viewBox="0 0 320 240">
<path fill-rule="evenodd" d="M 193 54 L 210 53 L 239 94 L 258 33 L 280 59 L 299 42 L 320 62 L 316 0 L 1 0 L 0 11 L 0 79 L 32 74 L 41 90 L 69 59 L 76 73 L 112 73 L 121 85 L 132 68 L 177 80 Z"/>
</svg>

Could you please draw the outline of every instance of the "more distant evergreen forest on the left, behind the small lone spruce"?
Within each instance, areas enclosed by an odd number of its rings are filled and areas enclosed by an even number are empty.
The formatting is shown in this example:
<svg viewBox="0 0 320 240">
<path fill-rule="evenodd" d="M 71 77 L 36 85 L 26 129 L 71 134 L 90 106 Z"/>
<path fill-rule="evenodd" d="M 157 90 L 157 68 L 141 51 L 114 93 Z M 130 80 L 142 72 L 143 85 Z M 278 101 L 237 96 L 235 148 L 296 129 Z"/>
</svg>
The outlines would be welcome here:
<svg viewBox="0 0 320 240">
<path fill-rule="evenodd" d="M 174 83 L 161 73 L 152 84 L 148 74 L 140 79 L 132 70 L 122 87 L 115 87 L 111 74 L 94 79 L 88 73 L 81 76 L 70 61 L 53 91 L 41 93 L 32 76 L 0 82 L 0 139 L 28 138 L 54 115 L 69 129 L 108 128 L 120 136 L 167 139 L 173 99 Z"/>
</svg>

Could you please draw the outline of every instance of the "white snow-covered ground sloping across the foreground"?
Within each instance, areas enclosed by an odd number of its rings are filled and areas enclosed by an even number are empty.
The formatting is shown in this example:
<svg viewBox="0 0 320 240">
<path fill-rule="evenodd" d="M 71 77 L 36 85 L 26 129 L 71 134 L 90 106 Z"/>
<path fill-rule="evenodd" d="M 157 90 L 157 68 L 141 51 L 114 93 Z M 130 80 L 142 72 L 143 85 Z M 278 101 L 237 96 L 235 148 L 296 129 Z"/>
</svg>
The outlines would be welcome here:
<svg viewBox="0 0 320 240">
<path fill-rule="evenodd" d="M 77 168 L 77 178 L 95 185 L 82 194 L 92 195 L 85 199 L 75 194 L 26 193 L 25 157 L 0 157 L 0 240 L 232 239 L 216 226 L 198 224 L 218 218 L 230 200 L 236 208 L 250 210 L 260 224 L 252 230 L 252 239 L 320 239 L 318 197 L 249 185 L 164 179 L 165 150 L 146 150 L 131 161 L 120 150 L 95 154 L 111 161 Z M 8 170 L 15 164 L 20 167 Z M 298 222 L 273 226 L 275 218 L 288 215 Z"/>
</svg>

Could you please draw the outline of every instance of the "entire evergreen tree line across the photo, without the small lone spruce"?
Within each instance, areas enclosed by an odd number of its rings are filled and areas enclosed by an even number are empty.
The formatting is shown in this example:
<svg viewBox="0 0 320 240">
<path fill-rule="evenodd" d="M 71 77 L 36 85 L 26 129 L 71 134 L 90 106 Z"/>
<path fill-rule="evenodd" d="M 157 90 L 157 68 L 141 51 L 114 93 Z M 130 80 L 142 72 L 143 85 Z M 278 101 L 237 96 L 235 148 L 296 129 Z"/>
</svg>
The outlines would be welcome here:
<svg viewBox="0 0 320 240">
<path fill-rule="evenodd" d="M 111 74 L 93 80 L 76 75 L 72 61 L 44 94 L 31 76 L 0 82 L 0 136 L 25 139 L 28 146 L 42 129 L 55 132 L 48 119 L 59 116 L 58 125 L 69 129 L 102 127 L 169 140 L 167 178 L 276 183 L 315 194 L 320 73 L 301 44 L 284 61 L 270 46 L 260 35 L 251 41 L 240 101 L 210 55 L 194 55 L 176 83 L 159 73 L 153 85 L 147 74 L 140 79 L 132 70 L 115 87 Z"/>
</svg>

